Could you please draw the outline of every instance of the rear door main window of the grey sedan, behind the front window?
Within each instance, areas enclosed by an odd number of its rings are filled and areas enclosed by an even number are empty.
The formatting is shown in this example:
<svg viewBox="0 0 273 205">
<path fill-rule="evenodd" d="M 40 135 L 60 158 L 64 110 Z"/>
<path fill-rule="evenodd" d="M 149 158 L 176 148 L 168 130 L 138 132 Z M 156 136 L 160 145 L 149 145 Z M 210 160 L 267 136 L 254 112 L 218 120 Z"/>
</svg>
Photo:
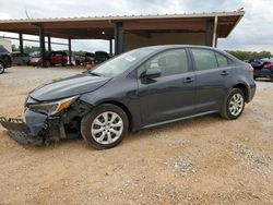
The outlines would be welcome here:
<svg viewBox="0 0 273 205">
<path fill-rule="evenodd" d="M 215 69 L 218 67 L 214 51 L 197 48 L 192 48 L 191 51 L 198 71 Z"/>
</svg>

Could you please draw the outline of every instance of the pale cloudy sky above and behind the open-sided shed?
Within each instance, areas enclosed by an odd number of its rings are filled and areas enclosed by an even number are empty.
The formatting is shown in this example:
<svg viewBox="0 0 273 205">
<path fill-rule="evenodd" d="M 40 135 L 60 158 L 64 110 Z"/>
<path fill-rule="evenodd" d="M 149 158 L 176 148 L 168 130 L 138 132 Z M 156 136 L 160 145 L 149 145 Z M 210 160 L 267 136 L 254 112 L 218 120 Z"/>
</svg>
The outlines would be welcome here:
<svg viewBox="0 0 273 205">
<path fill-rule="evenodd" d="M 273 52 L 273 0 L 0 0 L 0 20 L 43 17 L 79 17 L 102 15 L 174 14 L 235 11 L 244 8 L 242 20 L 228 38 L 218 39 L 225 50 L 269 50 Z M 17 36 L 0 33 L 0 36 Z M 25 37 L 25 36 L 24 36 Z M 32 36 L 26 36 L 31 38 Z M 63 39 L 51 41 L 67 43 Z M 13 44 L 19 44 L 16 40 Z M 38 46 L 38 44 L 25 43 Z M 106 50 L 106 40 L 72 40 L 73 50 Z M 67 49 L 54 45 L 52 48 Z"/>
</svg>

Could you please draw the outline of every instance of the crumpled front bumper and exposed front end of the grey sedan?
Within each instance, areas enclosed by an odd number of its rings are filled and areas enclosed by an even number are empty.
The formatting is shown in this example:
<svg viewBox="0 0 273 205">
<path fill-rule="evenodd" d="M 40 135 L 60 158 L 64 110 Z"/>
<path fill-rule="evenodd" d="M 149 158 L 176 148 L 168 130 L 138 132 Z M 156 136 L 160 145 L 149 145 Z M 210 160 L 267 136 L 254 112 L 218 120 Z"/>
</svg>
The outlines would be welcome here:
<svg viewBox="0 0 273 205">
<path fill-rule="evenodd" d="M 48 116 L 25 110 L 25 121 L 16 118 L 0 117 L 0 124 L 8 134 L 22 145 L 44 145 L 50 141 L 75 138 L 81 136 L 81 118 L 91 107 L 78 100 L 57 116 Z"/>
</svg>

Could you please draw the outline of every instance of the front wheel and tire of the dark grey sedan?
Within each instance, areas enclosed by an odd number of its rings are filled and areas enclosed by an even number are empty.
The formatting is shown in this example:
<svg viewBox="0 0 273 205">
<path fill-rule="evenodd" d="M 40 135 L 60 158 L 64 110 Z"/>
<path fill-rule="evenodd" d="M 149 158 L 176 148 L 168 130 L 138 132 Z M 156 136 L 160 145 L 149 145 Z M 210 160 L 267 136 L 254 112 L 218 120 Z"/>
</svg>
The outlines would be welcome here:
<svg viewBox="0 0 273 205">
<path fill-rule="evenodd" d="M 105 123 L 105 118 L 109 123 Z M 96 107 L 81 122 L 83 138 L 97 149 L 117 146 L 128 134 L 128 130 L 129 121 L 126 112 L 120 107 L 111 104 Z"/>
</svg>

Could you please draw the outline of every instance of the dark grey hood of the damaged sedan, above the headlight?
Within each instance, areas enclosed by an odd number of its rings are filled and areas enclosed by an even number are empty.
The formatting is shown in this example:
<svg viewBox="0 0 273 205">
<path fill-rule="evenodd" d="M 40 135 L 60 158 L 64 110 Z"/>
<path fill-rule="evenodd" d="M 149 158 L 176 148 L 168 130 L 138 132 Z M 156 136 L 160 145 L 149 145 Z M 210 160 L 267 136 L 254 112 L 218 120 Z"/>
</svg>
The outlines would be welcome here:
<svg viewBox="0 0 273 205">
<path fill-rule="evenodd" d="M 110 77 L 93 76 L 81 73 L 66 79 L 48 82 L 29 93 L 29 96 L 39 101 L 48 101 L 90 93 L 110 81 Z"/>
</svg>

